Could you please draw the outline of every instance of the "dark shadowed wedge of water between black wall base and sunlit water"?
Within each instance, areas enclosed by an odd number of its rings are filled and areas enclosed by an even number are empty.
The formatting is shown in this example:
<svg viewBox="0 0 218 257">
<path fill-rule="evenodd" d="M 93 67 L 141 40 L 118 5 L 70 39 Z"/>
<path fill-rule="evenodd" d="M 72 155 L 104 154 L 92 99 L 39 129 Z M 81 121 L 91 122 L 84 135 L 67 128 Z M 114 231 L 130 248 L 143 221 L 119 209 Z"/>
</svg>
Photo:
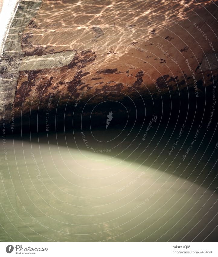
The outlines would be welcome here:
<svg viewBox="0 0 218 257">
<path fill-rule="evenodd" d="M 183 124 L 173 127 L 153 123 L 144 141 L 145 126 L 133 129 L 126 127 L 124 130 L 120 126 L 111 126 L 107 130 L 102 127 L 93 131 L 39 133 L 38 136 L 33 133 L 31 142 L 39 142 L 40 147 L 49 143 L 68 147 L 69 151 L 78 149 L 87 153 L 101 154 L 105 159 L 113 157 L 129 163 L 135 162 L 216 190 L 218 185 L 216 130 L 211 128 L 214 133 L 206 133 L 205 125 L 194 124 L 190 129 L 191 126 L 186 124 L 180 133 L 182 127 Z M 23 140 L 30 141 L 30 137 L 24 135 Z"/>
</svg>

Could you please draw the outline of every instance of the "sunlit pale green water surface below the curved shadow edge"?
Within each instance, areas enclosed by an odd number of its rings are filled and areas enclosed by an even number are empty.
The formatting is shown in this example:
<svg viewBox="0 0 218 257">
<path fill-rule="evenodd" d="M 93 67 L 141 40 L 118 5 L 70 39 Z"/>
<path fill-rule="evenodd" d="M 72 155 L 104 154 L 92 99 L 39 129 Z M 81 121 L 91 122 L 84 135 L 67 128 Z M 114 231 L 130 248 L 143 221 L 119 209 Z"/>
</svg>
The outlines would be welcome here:
<svg viewBox="0 0 218 257">
<path fill-rule="evenodd" d="M 143 163 L 126 159 L 129 153 L 119 154 L 121 148 L 98 153 L 103 148 L 90 140 L 95 150 L 88 150 L 80 132 L 66 134 L 68 147 L 63 134 L 57 138 L 6 141 L 1 241 L 188 242 L 204 240 L 216 227 L 217 194 L 207 189 L 213 179 L 205 182 L 209 167 L 197 176 L 190 165 L 183 176 L 178 162 L 171 168 L 159 159 L 157 167 L 144 162 L 147 152 Z M 134 153 L 139 157 L 141 148 Z"/>
</svg>

